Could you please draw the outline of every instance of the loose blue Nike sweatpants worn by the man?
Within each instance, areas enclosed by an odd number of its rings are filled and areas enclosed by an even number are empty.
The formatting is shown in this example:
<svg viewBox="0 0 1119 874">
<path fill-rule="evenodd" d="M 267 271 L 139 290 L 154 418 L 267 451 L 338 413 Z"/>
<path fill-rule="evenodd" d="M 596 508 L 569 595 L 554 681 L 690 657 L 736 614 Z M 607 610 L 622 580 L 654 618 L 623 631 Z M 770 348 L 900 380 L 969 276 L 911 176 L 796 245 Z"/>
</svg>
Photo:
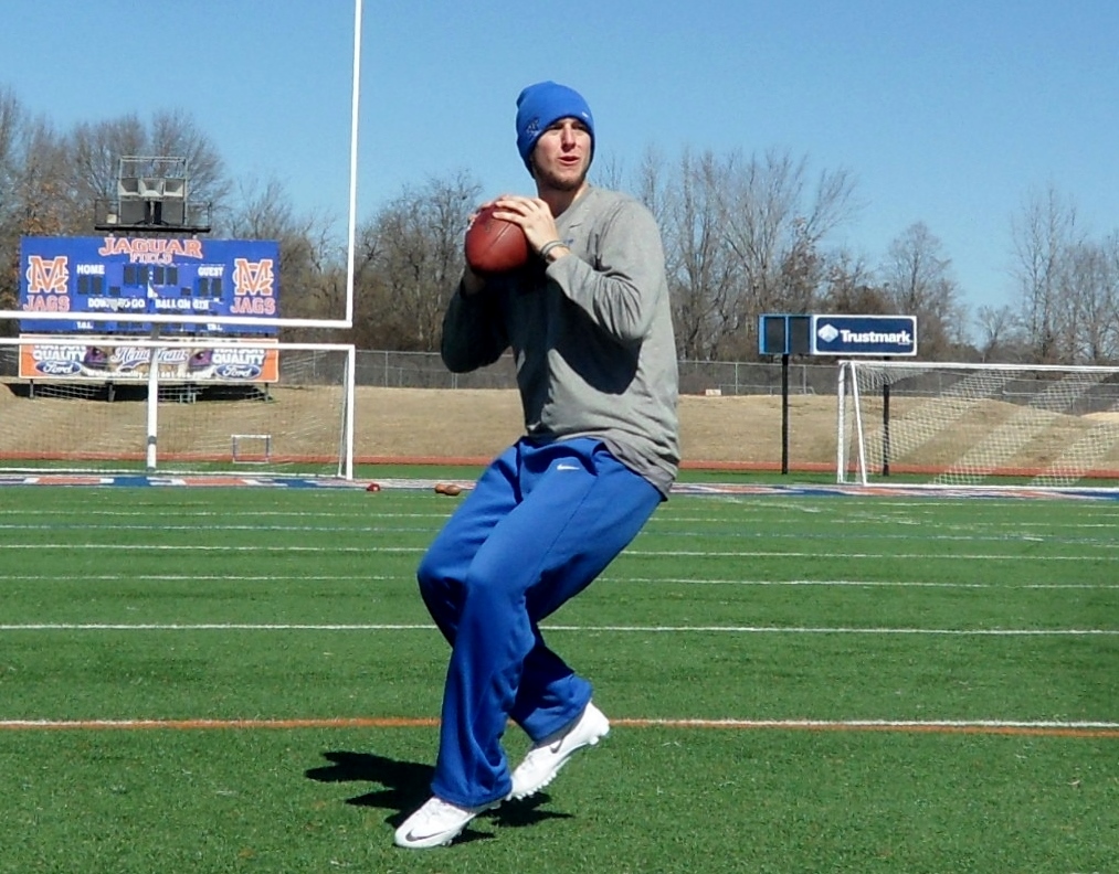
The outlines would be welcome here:
<svg viewBox="0 0 1119 874">
<path fill-rule="evenodd" d="M 576 719 L 591 684 L 538 623 L 594 580 L 661 494 L 598 440 L 520 440 L 490 464 L 420 563 L 420 592 L 451 644 L 432 792 L 462 807 L 508 795 L 501 737 L 535 742 Z"/>
</svg>

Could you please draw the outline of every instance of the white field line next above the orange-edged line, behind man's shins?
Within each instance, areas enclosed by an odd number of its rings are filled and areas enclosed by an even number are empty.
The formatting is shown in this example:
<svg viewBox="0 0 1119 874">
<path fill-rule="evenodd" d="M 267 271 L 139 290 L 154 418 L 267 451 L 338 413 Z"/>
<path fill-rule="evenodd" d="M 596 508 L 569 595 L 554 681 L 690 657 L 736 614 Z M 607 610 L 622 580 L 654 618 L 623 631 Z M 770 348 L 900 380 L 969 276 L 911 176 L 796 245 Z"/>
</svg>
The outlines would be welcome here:
<svg viewBox="0 0 1119 874">
<path fill-rule="evenodd" d="M 27 623 L 0 625 L 0 631 L 433 631 L 427 624 L 294 624 L 294 623 Z M 617 631 L 621 634 L 859 634 L 941 635 L 958 637 L 1119 636 L 1117 628 L 814 628 L 725 625 L 546 625 L 547 631 Z"/>
</svg>

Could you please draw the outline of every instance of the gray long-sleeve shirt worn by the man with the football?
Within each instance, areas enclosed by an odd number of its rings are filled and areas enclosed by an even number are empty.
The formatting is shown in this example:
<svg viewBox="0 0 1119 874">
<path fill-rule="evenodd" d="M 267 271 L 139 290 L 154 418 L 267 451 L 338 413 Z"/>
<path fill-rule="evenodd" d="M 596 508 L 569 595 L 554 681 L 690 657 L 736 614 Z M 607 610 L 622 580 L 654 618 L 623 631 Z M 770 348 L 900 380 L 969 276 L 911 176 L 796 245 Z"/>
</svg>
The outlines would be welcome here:
<svg viewBox="0 0 1119 874">
<path fill-rule="evenodd" d="M 558 217 L 572 250 L 455 294 L 442 354 L 454 372 L 513 348 L 527 436 L 596 437 L 667 494 L 679 465 L 678 377 L 665 256 L 652 215 L 591 188 Z"/>
</svg>

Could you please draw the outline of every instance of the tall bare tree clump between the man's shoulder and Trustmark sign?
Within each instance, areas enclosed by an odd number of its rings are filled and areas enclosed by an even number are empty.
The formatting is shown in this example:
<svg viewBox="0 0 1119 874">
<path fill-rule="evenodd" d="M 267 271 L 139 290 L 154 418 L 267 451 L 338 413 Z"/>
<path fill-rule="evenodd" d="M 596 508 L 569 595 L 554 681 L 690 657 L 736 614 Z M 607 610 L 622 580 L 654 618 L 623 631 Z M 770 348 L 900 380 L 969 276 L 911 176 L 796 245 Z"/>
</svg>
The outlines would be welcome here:
<svg viewBox="0 0 1119 874">
<path fill-rule="evenodd" d="M 673 174 L 647 155 L 638 188 L 661 226 L 685 358 L 752 358 L 761 313 L 808 312 L 827 277 L 822 240 L 857 210 L 848 173 L 812 183 L 782 152 L 685 150 Z"/>
</svg>

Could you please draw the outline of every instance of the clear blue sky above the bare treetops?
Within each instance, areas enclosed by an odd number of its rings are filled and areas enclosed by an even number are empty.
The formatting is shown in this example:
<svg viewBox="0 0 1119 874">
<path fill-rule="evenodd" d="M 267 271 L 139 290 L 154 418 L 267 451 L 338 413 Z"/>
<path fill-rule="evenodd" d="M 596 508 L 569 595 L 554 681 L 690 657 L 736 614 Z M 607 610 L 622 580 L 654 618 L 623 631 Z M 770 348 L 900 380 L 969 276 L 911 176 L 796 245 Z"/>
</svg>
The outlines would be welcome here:
<svg viewBox="0 0 1119 874">
<path fill-rule="evenodd" d="M 0 86 L 62 131 L 186 111 L 231 171 L 344 228 L 352 21 L 352 0 L 4 0 Z M 1033 192 L 1119 230 L 1113 0 L 366 0 L 359 216 L 459 170 L 529 193 L 515 99 L 545 78 L 623 168 L 687 146 L 850 171 L 864 207 L 829 243 L 875 264 L 923 221 L 972 310 L 1013 301 Z"/>
</svg>

